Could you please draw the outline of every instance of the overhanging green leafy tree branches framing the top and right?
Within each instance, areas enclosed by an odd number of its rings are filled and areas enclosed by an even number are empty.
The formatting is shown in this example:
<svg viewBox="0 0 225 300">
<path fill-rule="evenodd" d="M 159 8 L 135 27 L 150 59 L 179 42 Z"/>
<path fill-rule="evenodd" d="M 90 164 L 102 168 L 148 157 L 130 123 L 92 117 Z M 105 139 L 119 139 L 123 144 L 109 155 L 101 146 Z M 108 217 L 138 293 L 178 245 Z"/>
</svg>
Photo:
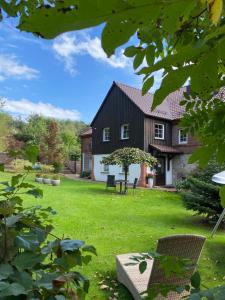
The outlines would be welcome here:
<svg viewBox="0 0 225 300">
<path fill-rule="evenodd" d="M 153 85 L 155 72 L 163 74 L 152 108 L 189 80 L 183 126 L 203 145 L 192 160 L 206 165 L 216 153 L 218 162 L 225 161 L 225 120 L 218 118 L 225 104 L 212 100 L 225 82 L 223 0 L 3 0 L 0 7 L 2 18 L 17 17 L 20 30 L 47 39 L 104 24 L 102 46 L 108 56 L 136 35 L 125 55 L 134 59 L 135 70 L 141 68 L 143 94 Z"/>
</svg>

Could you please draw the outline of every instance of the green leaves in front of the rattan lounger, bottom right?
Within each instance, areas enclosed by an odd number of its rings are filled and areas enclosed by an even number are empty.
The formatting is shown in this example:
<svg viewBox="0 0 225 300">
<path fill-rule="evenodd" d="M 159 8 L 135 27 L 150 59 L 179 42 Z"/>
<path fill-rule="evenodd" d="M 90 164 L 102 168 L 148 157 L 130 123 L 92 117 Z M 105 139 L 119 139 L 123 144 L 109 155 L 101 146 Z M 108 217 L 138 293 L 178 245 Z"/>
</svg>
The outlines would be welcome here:
<svg viewBox="0 0 225 300">
<path fill-rule="evenodd" d="M 207 289 L 201 280 L 201 276 L 198 271 L 195 271 L 196 265 L 193 265 L 190 259 L 178 258 L 174 256 L 167 256 L 159 254 L 154 251 L 148 251 L 145 254 L 134 255 L 131 257 L 133 263 L 128 265 L 139 266 L 140 273 L 144 273 L 147 269 L 146 260 L 157 260 L 160 269 L 163 271 L 165 278 L 170 279 L 172 276 L 177 278 L 186 278 L 187 272 L 193 270 L 193 274 L 190 278 L 190 284 L 185 286 L 176 286 L 173 284 L 152 284 L 151 287 L 143 294 L 147 293 L 144 298 L 146 300 L 157 299 L 158 296 L 167 297 L 171 291 L 182 294 L 188 292 L 187 296 L 182 296 L 181 299 L 186 300 L 223 300 L 225 293 L 225 285 L 216 288 Z"/>
</svg>

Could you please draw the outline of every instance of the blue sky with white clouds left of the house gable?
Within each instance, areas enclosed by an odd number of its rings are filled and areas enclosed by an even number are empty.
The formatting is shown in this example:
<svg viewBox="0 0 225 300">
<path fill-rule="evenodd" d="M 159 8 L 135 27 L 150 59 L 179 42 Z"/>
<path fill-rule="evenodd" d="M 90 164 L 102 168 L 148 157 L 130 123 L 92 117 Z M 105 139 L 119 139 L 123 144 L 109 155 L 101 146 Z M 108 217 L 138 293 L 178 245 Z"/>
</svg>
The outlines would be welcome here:
<svg viewBox="0 0 225 300">
<path fill-rule="evenodd" d="M 101 27 L 46 41 L 0 24 L 0 97 L 4 110 L 91 122 L 113 80 L 141 87 L 123 48 L 107 58 Z"/>
</svg>

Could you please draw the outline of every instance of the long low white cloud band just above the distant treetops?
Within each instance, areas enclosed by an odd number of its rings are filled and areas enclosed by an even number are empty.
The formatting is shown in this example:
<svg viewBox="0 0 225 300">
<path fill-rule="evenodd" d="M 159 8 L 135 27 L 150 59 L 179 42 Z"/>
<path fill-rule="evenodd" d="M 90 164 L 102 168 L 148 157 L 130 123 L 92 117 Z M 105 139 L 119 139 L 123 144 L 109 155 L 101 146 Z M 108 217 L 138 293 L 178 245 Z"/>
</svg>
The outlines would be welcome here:
<svg viewBox="0 0 225 300">
<path fill-rule="evenodd" d="M 31 114 L 39 114 L 61 120 L 80 120 L 79 111 L 63 109 L 50 103 L 34 103 L 27 99 L 16 101 L 2 98 L 1 100 L 4 102 L 2 110 L 15 116 L 21 116 L 22 118 L 26 118 Z"/>
</svg>

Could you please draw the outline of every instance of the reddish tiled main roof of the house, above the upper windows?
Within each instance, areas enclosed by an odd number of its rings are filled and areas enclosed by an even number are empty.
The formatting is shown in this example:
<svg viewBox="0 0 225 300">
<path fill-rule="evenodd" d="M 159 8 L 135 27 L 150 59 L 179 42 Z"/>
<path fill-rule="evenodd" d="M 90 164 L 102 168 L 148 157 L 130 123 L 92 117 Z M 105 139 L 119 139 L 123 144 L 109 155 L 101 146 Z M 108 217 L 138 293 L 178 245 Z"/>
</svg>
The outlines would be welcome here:
<svg viewBox="0 0 225 300">
<path fill-rule="evenodd" d="M 183 99 L 183 92 L 187 91 L 187 87 L 182 87 L 169 94 L 163 103 L 151 111 L 153 94 L 147 93 L 142 96 L 140 89 L 119 82 L 115 82 L 115 84 L 140 108 L 141 111 L 143 111 L 144 114 L 148 116 L 176 120 L 180 119 L 184 114 L 184 107 L 180 106 L 179 102 Z"/>
</svg>

